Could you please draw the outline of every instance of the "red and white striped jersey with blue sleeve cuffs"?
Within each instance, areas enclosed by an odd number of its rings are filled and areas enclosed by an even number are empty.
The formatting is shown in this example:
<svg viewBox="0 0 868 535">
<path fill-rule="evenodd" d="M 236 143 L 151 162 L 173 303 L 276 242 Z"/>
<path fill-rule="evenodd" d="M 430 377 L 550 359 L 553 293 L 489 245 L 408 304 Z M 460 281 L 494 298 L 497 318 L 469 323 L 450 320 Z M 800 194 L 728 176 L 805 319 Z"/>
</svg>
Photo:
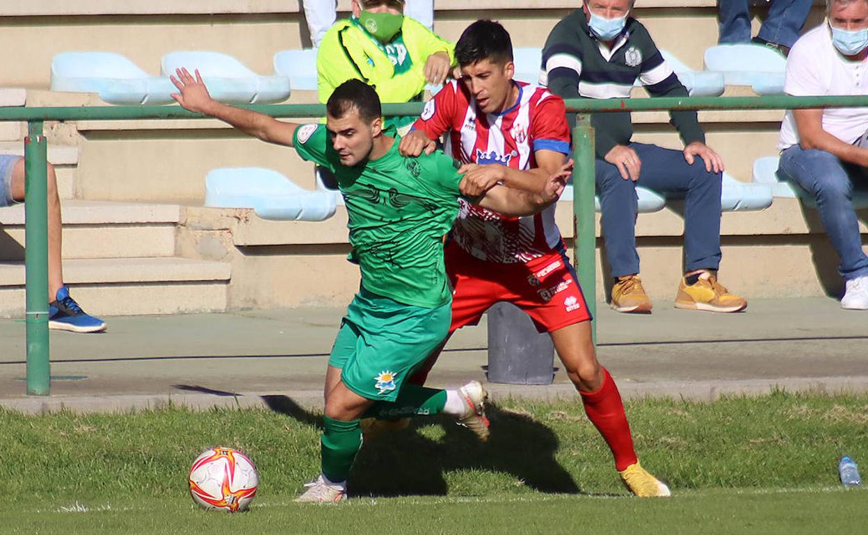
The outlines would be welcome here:
<svg viewBox="0 0 868 535">
<path fill-rule="evenodd" d="M 515 83 L 519 88 L 515 106 L 503 114 L 483 114 L 463 83 L 448 82 L 428 101 L 413 128 L 432 140 L 448 133 L 446 153 L 463 163 L 526 170 L 536 167 L 536 151 L 569 154 L 569 126 L 561 97 L 547 88 Z M 533 216 L 512 218 L 464 199 L 459 203 L 452 238 L 481 260 L 529 262 L 555 251 L 561 243 L 555 205 Z"/>
</svg>

